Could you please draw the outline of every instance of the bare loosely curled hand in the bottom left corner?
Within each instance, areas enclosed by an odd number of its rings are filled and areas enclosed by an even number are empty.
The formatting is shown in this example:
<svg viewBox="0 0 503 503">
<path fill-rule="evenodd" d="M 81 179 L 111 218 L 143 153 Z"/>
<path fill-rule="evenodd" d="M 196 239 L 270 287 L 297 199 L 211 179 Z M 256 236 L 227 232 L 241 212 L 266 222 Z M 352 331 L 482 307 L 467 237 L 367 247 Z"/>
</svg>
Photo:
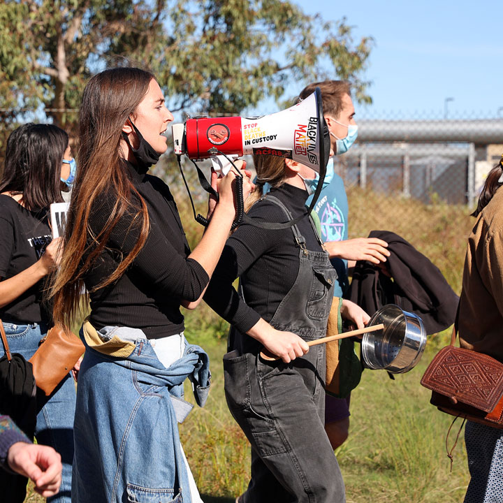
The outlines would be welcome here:
<svg viewBox="0 0 503 503">
<path fill-rule="evenodd" d="M 50 497 L 58 493 L 61 486 L 61 455 L 52 447 L 16 442 L 8 450 L 7 462 L 13 472 L 34 482 L 38 494 Z"/>
</svg>

